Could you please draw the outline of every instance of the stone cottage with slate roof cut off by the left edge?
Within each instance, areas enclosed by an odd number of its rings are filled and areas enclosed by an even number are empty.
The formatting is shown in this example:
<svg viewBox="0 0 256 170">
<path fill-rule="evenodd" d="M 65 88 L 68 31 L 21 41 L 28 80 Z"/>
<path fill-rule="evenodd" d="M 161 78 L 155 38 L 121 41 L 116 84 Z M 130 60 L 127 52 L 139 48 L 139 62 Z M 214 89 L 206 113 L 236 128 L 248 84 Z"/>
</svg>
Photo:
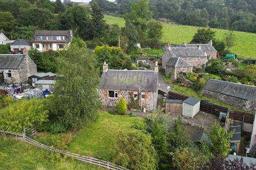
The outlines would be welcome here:
<svg viewBox="0 0 256 170">
<path fill-rule="evenodd" d="M 36 64 L 28 56 L 26 49 L 23 54 L 0 54 L 0 82 L 24 83 L 36 73 Z"/>
</svg>

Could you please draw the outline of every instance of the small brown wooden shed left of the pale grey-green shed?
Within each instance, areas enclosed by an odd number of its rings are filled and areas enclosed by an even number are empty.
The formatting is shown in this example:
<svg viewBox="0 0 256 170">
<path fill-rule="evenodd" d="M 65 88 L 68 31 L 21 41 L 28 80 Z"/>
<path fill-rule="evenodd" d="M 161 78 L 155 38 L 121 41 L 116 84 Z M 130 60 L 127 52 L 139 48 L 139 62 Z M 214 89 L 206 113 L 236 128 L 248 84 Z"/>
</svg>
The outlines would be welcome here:
<svg viewBox="0 0 256 170">
<path fill-rule="evenodd" d="M 165 101 L 165 113 L 181 115 L 182 114 L 182 100 L 171 100 Z"/>
</svg>

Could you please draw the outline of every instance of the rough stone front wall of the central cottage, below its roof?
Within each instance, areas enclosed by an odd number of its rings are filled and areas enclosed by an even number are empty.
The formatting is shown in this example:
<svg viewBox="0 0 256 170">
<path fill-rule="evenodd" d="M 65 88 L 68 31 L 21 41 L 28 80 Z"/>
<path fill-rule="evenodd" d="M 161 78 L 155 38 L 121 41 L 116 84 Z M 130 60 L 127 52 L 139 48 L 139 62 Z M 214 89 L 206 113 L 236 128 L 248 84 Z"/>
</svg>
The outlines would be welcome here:
<svg viewBox="0 0 256 170">
<path fill-rule="evenodd" d="M 102 105 L 106 107 L 116 106 L 121 98 L 124 98 L 126 100 L 127 105 L 129 105 L 131 101 L 129 92 L 134 92 L 134 91 L 130 91 L 130 90 L 115 90 L 115 91 L 118 91 L 118 98 L 113 99 L 113 98 L 108 98 L 107 89 L 99 90 L 99 95 L 100 95 L 100 100 L 102 102 Z M 137 92 L 139 93 L 139 91 Z M 148 91 L 143 91 L 143 92 L 145 92 L 145 100 L 141 100 L 142 109 L 146 108 L 146 111 L 155 110 L 157 105 L 157 92 L 148 92 Z"/>
</svg>

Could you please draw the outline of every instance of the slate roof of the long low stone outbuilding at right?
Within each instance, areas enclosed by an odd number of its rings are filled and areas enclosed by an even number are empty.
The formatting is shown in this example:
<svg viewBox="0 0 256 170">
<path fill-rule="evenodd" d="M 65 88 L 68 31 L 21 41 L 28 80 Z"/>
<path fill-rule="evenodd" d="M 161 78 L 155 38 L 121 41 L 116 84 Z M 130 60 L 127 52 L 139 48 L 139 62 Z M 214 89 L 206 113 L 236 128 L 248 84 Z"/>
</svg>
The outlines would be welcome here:
<svg viewBox="0 0 256 170">
<path fill-rule="evenodd" d="M 245 100 L 256 100 L 256 87 L 222 80 L 209 79 L 202 88 Z"/>
</svg>

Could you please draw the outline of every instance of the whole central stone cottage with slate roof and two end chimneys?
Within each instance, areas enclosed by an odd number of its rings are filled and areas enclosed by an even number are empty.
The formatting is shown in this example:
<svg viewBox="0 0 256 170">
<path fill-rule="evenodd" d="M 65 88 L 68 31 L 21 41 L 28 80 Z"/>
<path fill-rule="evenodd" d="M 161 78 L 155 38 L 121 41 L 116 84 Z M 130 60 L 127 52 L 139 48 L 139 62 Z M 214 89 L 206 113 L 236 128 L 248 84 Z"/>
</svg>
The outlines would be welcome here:
<svg viewBox="0 0 256 170">
<path fill-rule="evenodd" d="M 107 107 L 115 106 L 121 98 L 129 105 L 132 96 L 139 99 L 141 109 L 152 111 L 157 104 L 157 84 L 157 62 L 154 71 L 108 70 L 108 64 L 104 63 L 99 95 Z"/>
</svg>

